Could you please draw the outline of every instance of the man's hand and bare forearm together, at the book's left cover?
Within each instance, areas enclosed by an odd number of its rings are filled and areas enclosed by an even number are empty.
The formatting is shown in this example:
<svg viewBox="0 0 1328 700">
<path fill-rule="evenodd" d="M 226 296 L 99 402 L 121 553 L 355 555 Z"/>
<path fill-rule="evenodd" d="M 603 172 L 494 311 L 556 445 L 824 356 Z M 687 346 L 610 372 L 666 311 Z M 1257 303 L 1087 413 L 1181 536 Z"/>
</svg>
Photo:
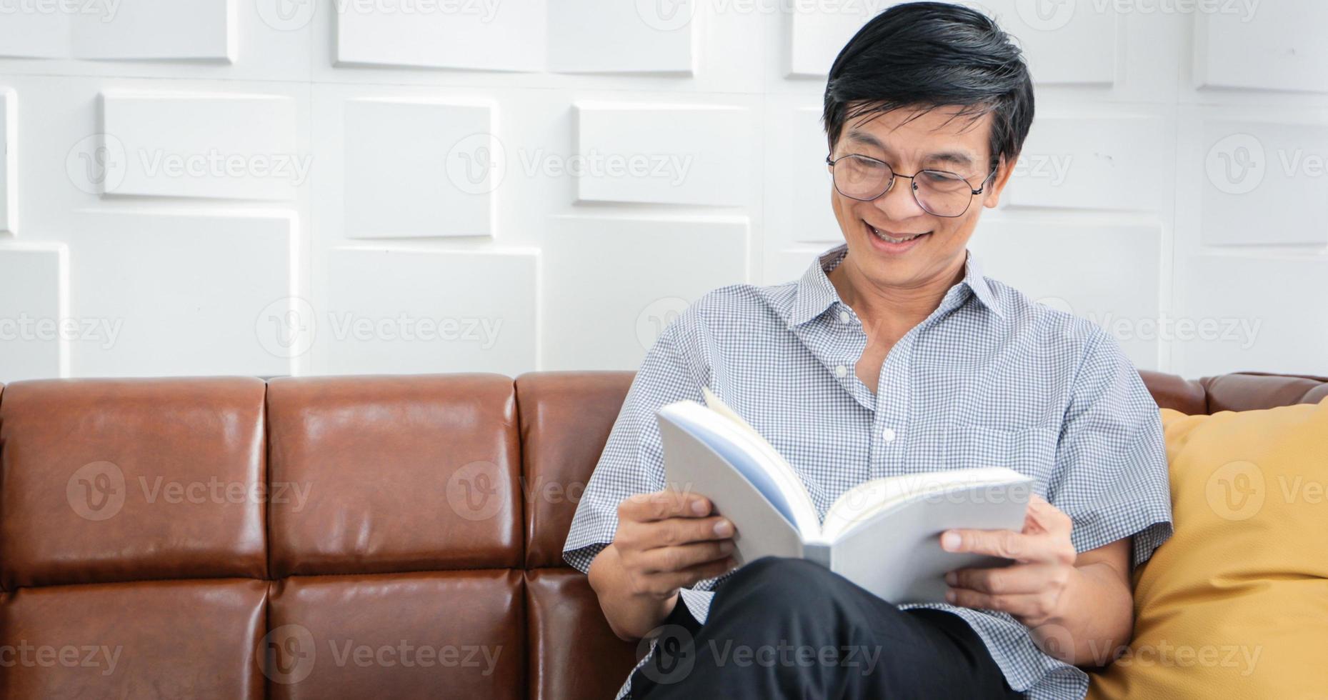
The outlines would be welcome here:
<svg viewBox="0 0 1328 700">
<path fill-rule="evenodd" d="M 736 566 L 734 527 L 704 495 L 664 490 L 618 505 L 614 543 L 595 557 L 590 583 L 618 636 L 639 639 L 668 616 L 679 588 Z"/>
</svg>

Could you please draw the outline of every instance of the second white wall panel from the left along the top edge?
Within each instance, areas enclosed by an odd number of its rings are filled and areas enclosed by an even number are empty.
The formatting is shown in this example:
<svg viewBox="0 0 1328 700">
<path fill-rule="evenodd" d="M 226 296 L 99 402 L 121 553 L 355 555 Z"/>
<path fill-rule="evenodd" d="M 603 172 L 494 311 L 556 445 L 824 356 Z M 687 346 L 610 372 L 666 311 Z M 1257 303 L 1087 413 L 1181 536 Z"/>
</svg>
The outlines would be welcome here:
<svg viewBox="0 0 1328 700">
<path fill-rule="evenodd" d="M 235 3 L 243 0 L 117 0 L 73 15 L 78 58 L 235 58 Z"/>
</svg>

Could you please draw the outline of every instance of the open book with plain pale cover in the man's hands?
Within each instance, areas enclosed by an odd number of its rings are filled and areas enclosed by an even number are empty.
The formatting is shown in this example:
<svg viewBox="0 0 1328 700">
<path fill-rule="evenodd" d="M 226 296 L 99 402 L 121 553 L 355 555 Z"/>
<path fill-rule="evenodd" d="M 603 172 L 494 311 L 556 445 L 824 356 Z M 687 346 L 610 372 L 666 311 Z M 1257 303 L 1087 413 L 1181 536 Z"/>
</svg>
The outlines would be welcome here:
<svg viewBox="0 0 1328 700">
<path fill-rule="evenodd" d="M 997 466 L 872 480 L 845 491 L 822 522 L 793 466 L 704 393 L 706 405 L 677 401 L 659 410 L 664 478 L 733 521 L 738 566 L 761 557 L 809 559 L 891 603 L 924 603 L 944 602 L 947 571 L 1009 563 L 944 551 L 940 534 L 1021 530 L 1029 477 Z"/>
</svg>

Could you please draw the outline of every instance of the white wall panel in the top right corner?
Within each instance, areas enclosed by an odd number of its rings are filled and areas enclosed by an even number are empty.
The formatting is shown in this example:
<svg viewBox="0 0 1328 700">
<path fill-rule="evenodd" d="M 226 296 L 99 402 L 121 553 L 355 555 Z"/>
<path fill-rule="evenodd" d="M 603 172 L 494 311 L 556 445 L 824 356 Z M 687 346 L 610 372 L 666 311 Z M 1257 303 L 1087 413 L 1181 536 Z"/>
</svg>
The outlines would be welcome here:
<svg viewBox="0 0 1328 700">
<path fill-rule="evenodd" d="M 1328 3 L 1258 3 L 1252 17 L 1198 17 L 1195 78 L 1201 88 L 1328 92 Z"/>
</svg>

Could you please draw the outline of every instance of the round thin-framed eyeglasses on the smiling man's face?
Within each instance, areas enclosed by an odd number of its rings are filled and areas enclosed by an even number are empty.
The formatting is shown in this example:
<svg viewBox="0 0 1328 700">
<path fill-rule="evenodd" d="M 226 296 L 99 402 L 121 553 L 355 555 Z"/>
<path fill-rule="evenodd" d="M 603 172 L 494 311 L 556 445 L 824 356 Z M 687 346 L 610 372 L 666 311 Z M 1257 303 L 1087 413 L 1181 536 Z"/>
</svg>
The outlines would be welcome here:
<svg viewBox="0 0 1328 700">
<path fill-rule="evenodd" d="M 918 206 L 927 214 L 944 218 L 963 217 L 973 197 L 983 194 L 987 181 L 996 174 L 992 169 L 983 178 L 981 186 L 975 190 L 972 183 L 955 173 L 920 170 L 915 175 L 900 175 L 884 161 L 857 153 L 839 158 L 827 155 L 826 165 L 833 173 L 834 189 L 849 199 L 871 202 L 888 193 L 895 185 L 895 178 L 908 178 L 912 181 L 912 195 Z"/>
</svg>

